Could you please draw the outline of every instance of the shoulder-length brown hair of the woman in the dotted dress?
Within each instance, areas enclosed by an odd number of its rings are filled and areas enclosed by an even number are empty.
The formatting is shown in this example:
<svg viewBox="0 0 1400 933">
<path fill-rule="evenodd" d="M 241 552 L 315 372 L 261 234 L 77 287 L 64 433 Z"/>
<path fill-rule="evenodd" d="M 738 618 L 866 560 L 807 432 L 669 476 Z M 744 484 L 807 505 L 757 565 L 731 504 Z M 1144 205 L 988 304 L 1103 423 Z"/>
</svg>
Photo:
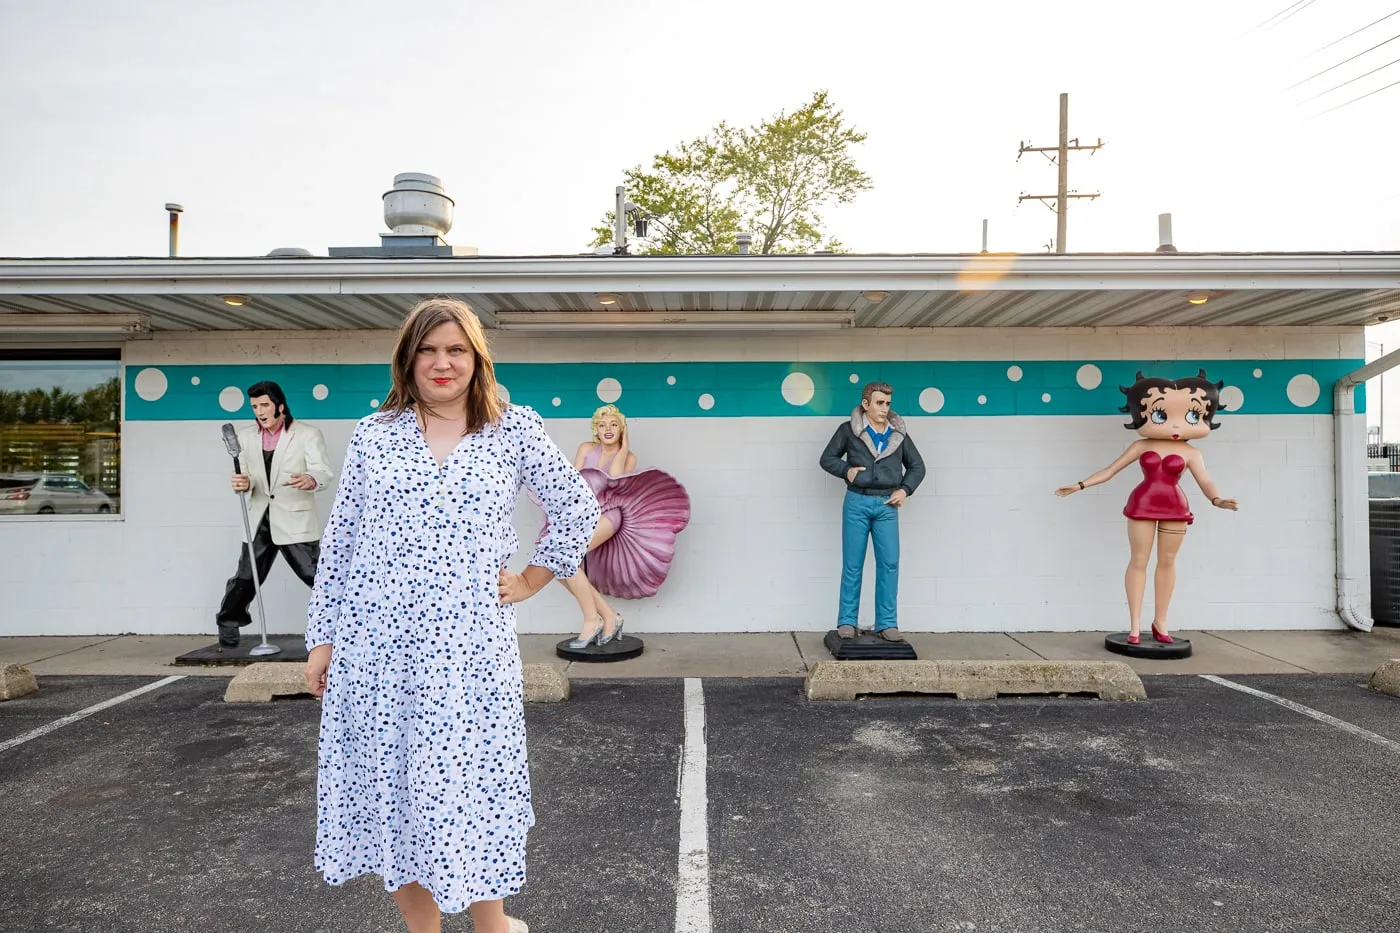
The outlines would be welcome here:
<svg viewBox="0 0 1400 933">
<path fill-rule="evenodd" d="M 491 361 L 491 350 L 486 345 L 486 331 L 482 329 L 482 322 L 470 305 L 459 298 L 427 298 L 409 311 L 409 317 L 399 328 L 393 360 L 389 364 L 393 385 L 379 410 L 388 415 L 400 415 L 410 408 L 433 410 L 419 398 L 419 387 L 413 381 L 413 360 L 417 357 L 419 345 L 441 324 L 455 324 L 462 328 L 476 356 L 472 384 L 466 388 L 466 433 L 472 434 L 498 422 L 503 405 L 496 385 L 496 363 Z"/>
</svg>

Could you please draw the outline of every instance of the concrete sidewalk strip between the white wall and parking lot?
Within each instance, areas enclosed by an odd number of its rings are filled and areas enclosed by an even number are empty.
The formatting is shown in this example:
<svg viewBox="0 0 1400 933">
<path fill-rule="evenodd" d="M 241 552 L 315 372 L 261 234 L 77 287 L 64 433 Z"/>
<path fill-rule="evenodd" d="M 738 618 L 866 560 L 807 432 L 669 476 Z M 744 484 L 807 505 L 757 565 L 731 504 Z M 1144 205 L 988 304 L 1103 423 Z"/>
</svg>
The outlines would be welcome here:
<svg viewBox="0 0 1400 933">
<path fill-rule="evenodd" d="M 554 654 L 563 635 L 521 636 L 525 661 L 550 663 L 570 678 L 805 677 L 832 656 L 825 632 L 745 635 L 638 635 L 641 657 L 612 664 L 568 663 Z M 1371 674 L 1400 658 L 1400 629 L 1362 632 L 1175 632 L 1194 654 L 1183 661 L 1137 661 L 1110 654 L 1103 632 L 920 633 L 906 637 L 923 660 L 1124 660 L 1138 674 Z M 0 665 L 22 664 L 36 675 L 190 674 L 232 677 L 239 665 L 175 665 L 214 635 L 0 637 Z M 272 657 L 269 660 L 277 660 Z"/>
</svg>

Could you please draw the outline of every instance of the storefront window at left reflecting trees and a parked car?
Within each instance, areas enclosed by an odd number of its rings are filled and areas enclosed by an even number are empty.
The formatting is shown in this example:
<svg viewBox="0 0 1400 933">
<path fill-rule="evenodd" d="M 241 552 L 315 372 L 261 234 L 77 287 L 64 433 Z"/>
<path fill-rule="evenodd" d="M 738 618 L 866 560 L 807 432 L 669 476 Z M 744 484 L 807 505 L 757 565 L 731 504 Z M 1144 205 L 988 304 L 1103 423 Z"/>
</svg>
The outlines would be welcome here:
<svg viewBox="0 0 1400 933">
<path fill-rule="evenodd" d="M 116 514 L 118 350 L 0 350 L 0 518 Z"/>
</svg>

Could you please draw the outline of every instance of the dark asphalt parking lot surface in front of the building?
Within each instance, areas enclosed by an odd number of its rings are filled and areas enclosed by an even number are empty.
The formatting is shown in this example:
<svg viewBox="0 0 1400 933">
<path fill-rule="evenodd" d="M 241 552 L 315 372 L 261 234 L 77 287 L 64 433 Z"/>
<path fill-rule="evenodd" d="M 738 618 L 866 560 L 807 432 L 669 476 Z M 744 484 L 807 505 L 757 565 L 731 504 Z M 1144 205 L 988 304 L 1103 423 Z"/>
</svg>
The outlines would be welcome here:
<svg viewBox="0 0 1400 933">
<path fill-rule="evenodd" d="M 46 677 L 0 705 L 0 748 L 161 679 Z M 1198 677 L 1145 678 L 1140 703 L 704 679 L 687 745 L 685 682 L 577 681 L 526 712 L 539 822 L 508 906 L 533 933 L 1393 933 L 1400 700 L 1358 675 L 1229 681 L 1336 721 Z M 316 702 L 224 686 L 167 682 L 0 751 L 0 929 L 400 929 L 377 878 L 311 869 Z M 697 742 L 703 897 L 678 887 Z"/>
</svg>

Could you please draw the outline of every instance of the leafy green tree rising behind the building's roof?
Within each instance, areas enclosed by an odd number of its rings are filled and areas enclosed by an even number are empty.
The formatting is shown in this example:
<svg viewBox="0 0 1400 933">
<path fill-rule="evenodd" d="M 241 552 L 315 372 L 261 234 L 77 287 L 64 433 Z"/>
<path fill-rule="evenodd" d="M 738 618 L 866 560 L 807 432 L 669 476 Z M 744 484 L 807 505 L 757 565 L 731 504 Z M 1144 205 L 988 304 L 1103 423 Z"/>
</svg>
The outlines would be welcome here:
<svg viewBox="0 0 1400 933">
<path fill-rule="evenodd" d="M 738 252 L 741 233 L 753 234 L 755 252 L 839 251 L 820 210 L 872 186 L 851 156 L 862 141 L 865 133 L 846 123 L 826 91 L 748 129 L 721 122 L 657 156 L 650 171 L 627 170 L 627 198 L 650 220 L 644 252 Z M 613 241 L 613 217 L 594 228 L 592 245 Z"/>
</svg>

